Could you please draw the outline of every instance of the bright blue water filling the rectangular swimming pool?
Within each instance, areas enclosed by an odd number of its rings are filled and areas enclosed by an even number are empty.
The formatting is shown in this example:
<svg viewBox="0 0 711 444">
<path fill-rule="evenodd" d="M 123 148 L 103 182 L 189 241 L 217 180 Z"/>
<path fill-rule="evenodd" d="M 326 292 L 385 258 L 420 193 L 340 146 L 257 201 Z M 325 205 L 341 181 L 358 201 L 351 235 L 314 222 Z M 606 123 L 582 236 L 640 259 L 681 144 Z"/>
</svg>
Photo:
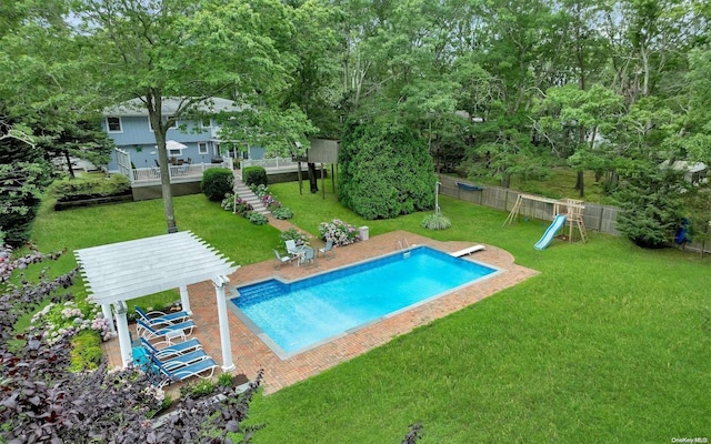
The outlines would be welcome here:
<svg viewBox="0 0 711 444">
<path fill-rule="evenodd" d="M 497 270 L 417 246 L 291 283 L 238 287 L 238 316 L 278 355 L 296 354 Z"/>
</svg>

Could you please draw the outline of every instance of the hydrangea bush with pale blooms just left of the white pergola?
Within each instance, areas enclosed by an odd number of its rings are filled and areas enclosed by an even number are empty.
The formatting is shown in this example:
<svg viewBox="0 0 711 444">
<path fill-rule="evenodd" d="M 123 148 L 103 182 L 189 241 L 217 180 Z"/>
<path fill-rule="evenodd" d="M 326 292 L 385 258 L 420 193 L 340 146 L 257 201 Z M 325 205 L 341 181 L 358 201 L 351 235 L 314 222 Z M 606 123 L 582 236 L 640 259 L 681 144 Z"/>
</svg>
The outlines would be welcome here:
<svg viewBox="0 0 711 444">
<path fill-rule="evenodd" d="M 50 344 L 87 329 L 99 332 L 102 341 L 112 337 L 109 321 L 99 312 L 99 307 L 87 302 L 49 303 L 32 316 L 31 323 L 44 326 L 44 335 Z"/>
</svg>

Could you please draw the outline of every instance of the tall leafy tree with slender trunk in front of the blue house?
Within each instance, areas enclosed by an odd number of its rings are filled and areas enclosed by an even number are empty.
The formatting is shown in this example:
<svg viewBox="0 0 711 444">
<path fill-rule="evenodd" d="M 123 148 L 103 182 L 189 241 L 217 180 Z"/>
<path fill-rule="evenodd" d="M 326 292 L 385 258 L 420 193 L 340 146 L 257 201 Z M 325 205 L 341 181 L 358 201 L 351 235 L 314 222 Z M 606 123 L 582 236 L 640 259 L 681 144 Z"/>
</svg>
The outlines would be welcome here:
<svg viewBox="0 0 711 444">
<path fill-rule="evenodd" d="M 276 42 L 294 32 L 288 8 L 277 0 L 79 0 L 77 6 L 77 30 L 87 37 L 84 62 L 101 73 L 107 101 L 138 99 L 148 111 L 166 221 L 174 232 L 168 129 L 211 97 L 226 95 L 248 107 L 284 87 L 284 67 L 292 60 Z M 167 119 L 163 98 L 180 98 Z"/>
</svg>

